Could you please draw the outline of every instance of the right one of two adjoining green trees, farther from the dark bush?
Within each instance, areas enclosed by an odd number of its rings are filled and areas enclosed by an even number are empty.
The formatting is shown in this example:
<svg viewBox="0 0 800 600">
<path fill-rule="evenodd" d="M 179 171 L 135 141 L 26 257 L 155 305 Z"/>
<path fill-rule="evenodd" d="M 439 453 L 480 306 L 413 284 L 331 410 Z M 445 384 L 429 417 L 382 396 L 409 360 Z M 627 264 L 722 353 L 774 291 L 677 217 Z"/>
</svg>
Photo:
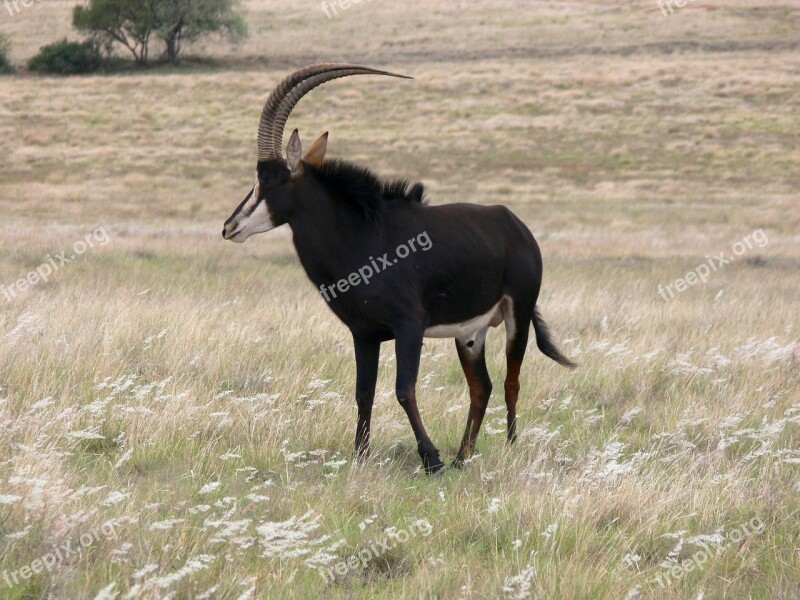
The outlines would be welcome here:
<svg viewBox="0 0 800 600">
<path fill-rule="evenodd" d="M 235 0 L 156 0 L 157 33 L 164 40 L 165 56 L 180 61 L 187 43 L 217 33 L 231 42 L 247 35 L 244 19 L 235 11 Z"/>
</svg>

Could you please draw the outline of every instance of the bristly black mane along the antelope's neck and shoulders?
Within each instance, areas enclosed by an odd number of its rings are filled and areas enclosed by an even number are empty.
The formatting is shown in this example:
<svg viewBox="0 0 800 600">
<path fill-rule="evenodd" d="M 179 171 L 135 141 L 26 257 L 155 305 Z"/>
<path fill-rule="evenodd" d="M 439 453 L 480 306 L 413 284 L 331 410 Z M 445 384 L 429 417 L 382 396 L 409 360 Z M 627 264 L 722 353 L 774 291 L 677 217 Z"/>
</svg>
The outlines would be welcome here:
<svg viewBox="0 0 800 600">
<path fill-rule="evenodd" d="M 381 179 L 366 167 L 344 160 L 326 160 L 312 167 L 325 188 L 370 219 L 382 216 L 388 204 L 427 204 L 425 186 L 406 179 Z"/>
</svg>

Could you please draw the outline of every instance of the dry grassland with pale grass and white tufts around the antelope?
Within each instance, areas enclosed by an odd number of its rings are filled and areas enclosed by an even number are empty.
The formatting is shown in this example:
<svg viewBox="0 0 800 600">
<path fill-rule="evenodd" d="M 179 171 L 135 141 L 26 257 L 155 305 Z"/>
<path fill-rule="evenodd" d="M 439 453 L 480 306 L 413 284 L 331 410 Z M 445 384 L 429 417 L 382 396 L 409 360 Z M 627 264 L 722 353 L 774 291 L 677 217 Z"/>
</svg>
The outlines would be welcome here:
<svg viewBox="0 0 800 600">
<path fill-rule="evenodd" d="M 3 12 L 14 60 L 68 34 L 71 5 Z M 0 297 L 0 597 L 800 596 L 797 5 L 245 10 L 250 39 L 195 49 L 211 61 L 0 79 L 0 283 L 93 241 Z M 287 231 L 220 237 L 266 94 L 313 60 L 416 80 L 315 92 L 289 123 L 307 144 L 330 129 L 329 155 L 433 203 L 505 204 L 542 247 L 539 305 L 580 368 L 531 343 L 508 447 L 490 334 L 463 470 L 420 471 L 391 344 L 354 465 L 348 332 Z M 451 341 L 426 341 L 418 396 L 451 460 Z"/>
</svg>

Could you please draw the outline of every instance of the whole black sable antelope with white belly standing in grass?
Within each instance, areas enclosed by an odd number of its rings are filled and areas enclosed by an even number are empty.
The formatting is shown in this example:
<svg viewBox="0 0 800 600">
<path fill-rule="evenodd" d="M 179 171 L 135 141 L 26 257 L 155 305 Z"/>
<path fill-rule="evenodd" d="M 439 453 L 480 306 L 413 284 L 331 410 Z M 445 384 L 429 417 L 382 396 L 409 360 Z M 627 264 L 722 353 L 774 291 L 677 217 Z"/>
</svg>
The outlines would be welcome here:
<svg viewBox="0 0 800 600">
<path fill-rule="evenodd" d="M 469 385 L 469 415 L 456 465 L 474 451 L 492 392 L 484 348 L 489 327 L 505 323 L 509 442 L 516 437 L 519 373 L 530 323 L 539 350 L 564 366 L 575 364 L 553 343 L 536 308 L 542 256 L 531 232 L 508 208 L 429 206 L 419 183 L 382 181 L 365 168 L 326 161 L 327 133 L 303 157 L 295 129 L 282 157 L 283 130 L 294 106 L 315 87 L 349 75 L 406 78 L 358 65 L 319 64 L 284 79 L 261 113 L 255 185 L 225 222 L 222 236 L 244 242 L 281 225 L 291 228 L 306 274 L 323 294 L 330 292 L 331 309 L 353 335 L 357 457 L 369 452 L 380 345 L 395 340 L 397 399 L 425 470 L 434 473 L 444 464 L 422 425 L 415 393 L 423 338 L 455 338 Z M 414 240 L 423 245 L 423 234 L 429 242 L 423 251 L 409 253 L 406 247 L 402 257 L 400 247 Z M 398 258 L 387 259 L 395 249 Z M 365 265 L 379 266 L 374 257 L 384 261 L 383 270 L 365 285 L 353 283 Z"/>
</svg>

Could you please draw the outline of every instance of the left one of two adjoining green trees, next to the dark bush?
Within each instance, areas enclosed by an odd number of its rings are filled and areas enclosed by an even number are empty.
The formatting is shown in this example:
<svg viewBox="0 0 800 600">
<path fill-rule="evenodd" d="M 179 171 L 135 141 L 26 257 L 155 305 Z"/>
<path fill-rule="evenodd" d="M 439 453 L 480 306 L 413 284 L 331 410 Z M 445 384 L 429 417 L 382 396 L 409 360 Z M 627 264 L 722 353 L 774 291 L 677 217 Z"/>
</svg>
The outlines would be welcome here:
<svg viewBox="0 0 800 600">
<path fill-rule="evenodd" d="M 136 64 L 147 64 L 148 43 L 158 27 L 157 5 L 165 0 L 89 0 L 76 6 L 72 24 L 89 33 L 99 45 L 118 42 L 130 50 Z"/>
</svg>

